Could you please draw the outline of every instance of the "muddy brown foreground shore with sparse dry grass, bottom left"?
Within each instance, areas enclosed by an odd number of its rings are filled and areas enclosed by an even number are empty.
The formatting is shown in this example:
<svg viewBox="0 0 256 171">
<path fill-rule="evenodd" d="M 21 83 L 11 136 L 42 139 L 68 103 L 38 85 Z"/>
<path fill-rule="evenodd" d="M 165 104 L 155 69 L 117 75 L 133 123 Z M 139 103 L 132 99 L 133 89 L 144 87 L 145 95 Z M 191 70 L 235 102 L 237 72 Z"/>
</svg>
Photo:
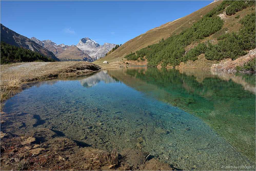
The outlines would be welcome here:
<svg viewBox="0 0 256 171">
<path fill-rule="evenodd" d="M 148 156 L 148 157 L 147 157 Z M 46 128 L 12 137 L 1 132 L 1 170 L 180 170 L 141 150 L 84 146 Z"/>
</svg>

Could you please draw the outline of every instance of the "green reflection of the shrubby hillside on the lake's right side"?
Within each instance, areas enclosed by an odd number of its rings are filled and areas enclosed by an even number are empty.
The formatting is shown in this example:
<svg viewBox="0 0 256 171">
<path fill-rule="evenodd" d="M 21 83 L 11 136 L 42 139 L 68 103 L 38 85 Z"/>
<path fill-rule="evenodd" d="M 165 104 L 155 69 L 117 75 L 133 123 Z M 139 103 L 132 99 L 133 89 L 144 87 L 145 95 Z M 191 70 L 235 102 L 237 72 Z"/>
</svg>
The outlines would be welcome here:
<svg viewBox="0 0 256 171">
<path fill-rule="evenodd" d="M 108 73 L 146 96 L 203 119 L 255 160 L 255 75 L 144 67 Z"/>
</svg>

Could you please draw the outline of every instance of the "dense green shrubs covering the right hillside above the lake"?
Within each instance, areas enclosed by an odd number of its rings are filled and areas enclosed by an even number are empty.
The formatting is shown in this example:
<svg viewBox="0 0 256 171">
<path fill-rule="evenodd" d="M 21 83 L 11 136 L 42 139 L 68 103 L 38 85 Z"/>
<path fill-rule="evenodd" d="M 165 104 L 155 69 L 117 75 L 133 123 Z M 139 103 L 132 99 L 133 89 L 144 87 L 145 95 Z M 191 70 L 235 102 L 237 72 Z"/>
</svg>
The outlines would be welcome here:
<svg viewBox="0 0 256 171">
<path fill-rule="evenodd" d="M 247 1 L 246 3 L 243 1 L 243 3 L 247 7 L 255 6 L 255 1 Z M 166 40 L 162 39 L 158 44 L 142 48 L 136 51 L 136 54 L 137 56 L 145 56 L 148 66 L 157 66 L 159 63 L 162 63 L 161 66 L 163 67 L 167 65 L 174 67 L 181 62 L 191 59 L 195 61 L 198 59 L 197 56 L 202 53 L 206 53 L 206 56 L 210 60 L 220 60 L 225 57 L 235 59 L 237 56 L 245 54 L 244 50 L 255 48 L 255 14 L 250 14 L 240 20 L 243 26 L 240 28 L 239 34 L 231 33 L 224 35 L 221 34 L 225 33 L 227 29 L 224 28 L 223 31 L 220 31 L 223 26 L 223 20 L 216 15 L 221 13 L 225 9 L 225 6 L 229 6 L 229 10 L 239 11 L 241 6 L 239 4 L 240 2 L 237 3 L 236 1 L 223 1 L 190 28 Z M 254 20 L 252 19 L 253 15 Z M 185 55 L 186 46 L 192 42 L 199 42 L 214 33 L 221 40 L 218 45 L 212 45 L 210 42 L 199 43 L 198 46 L 191 49 Z M 131 56 L 131 54 L 129 55 Z M 135 57 L 133 58 L 135 59 Z"/>
</svg>

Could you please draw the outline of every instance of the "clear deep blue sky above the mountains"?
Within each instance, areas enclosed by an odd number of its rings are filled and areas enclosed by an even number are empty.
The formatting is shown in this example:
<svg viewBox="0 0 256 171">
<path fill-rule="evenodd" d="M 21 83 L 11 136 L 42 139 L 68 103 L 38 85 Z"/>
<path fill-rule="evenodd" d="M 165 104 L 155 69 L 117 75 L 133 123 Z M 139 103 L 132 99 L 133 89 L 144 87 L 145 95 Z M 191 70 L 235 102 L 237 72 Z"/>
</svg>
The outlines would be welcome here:
<svg viewBox="0 0 256 171">
<path fill-rule="evenodd" d="M 0 22 L 26 36 L 76 45 L 125 42 L 213 1 L 0 1 Z"/>
</svg>

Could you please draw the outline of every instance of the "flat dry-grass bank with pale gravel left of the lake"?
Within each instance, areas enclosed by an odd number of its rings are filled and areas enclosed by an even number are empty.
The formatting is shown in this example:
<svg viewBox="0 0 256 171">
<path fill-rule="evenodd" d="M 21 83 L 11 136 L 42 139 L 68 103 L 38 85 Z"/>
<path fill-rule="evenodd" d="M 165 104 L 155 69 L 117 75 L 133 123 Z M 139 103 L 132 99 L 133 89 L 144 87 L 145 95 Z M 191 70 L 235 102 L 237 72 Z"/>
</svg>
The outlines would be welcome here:
<svg viewBox="0 0 256 171">
<path fill-rule="evenodd" d="M 28 62 L 1 65 L 1 86 L 7 86 L 6 80 L 19 78 L 21 82 L 52 79 L 92 73 L 101 68 L 89 62 Z"/>
</svg>

